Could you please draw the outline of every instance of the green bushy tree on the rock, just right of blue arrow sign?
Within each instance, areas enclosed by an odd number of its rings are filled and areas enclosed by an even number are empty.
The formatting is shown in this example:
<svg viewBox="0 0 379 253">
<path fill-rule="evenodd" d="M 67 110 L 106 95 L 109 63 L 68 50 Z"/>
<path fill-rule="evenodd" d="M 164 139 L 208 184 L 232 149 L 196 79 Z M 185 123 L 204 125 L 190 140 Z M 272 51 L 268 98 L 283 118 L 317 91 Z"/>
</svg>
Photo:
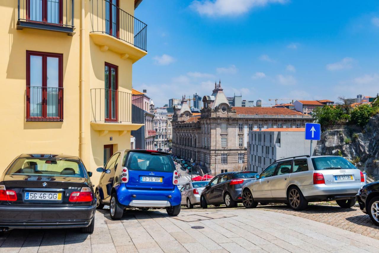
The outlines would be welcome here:
<svg viewBox="0 0 379 253">
<path fill-rule="evenodd" d="M 334 107 L 332 105 L 324 105 L 323 107 L 317 107 L 313 110 L 312 116 L 316 119 L 316 122 L 321 126 L 329 126 L 338 123 L 344 115 L 343 110 L 340 107 Z"/>
</svg>

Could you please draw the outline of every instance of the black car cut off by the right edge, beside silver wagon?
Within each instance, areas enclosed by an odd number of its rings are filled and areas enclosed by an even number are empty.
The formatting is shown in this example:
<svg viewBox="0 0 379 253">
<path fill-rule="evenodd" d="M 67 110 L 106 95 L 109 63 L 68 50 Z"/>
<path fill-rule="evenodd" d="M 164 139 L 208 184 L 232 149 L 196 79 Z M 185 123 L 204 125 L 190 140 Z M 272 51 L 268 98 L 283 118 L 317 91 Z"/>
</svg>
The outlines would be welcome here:
<svg viewBox="0 0 379 253">
<path fill-rule="evenodd" d="M 360 209 L 379 226 L 379 181 L 363 185 L 357 194 Z"/>
</svg>

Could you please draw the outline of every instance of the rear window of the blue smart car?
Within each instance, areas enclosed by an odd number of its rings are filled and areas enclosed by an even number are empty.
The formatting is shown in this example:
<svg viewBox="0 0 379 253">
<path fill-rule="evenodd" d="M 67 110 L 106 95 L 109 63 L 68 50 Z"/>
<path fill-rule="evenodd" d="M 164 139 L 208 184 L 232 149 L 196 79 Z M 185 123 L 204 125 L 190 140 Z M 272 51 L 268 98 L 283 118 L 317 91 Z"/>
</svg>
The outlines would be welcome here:
<svg viewBox="0 0 379 253">
<path fill-rule="evenodd" d="M 125 164 L 126 163 L 126 164 Z M 174 172 L 175 167 L 171 157 L 155 152 L 134 152 L 128 153 L 128 158 L 123 164 L 128 170 L 146 170 Z"/>
</svg>

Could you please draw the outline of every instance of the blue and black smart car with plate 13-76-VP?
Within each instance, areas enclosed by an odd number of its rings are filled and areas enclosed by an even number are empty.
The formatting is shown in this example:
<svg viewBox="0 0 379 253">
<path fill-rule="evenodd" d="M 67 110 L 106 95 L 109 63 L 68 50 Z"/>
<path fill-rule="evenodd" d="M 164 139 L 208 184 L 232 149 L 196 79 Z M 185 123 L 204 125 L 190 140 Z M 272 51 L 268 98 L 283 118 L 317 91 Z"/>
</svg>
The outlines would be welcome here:
<svg viewBox="0 0 379 253">
<path fill-rule="evenodd" d="M 97 209 L 110 206 L 112 219 L 125 208 L 165 208 L 168 215 L 180 212 L 182 196 L 178 172 L 169 153 L 155 150 L 117 151 L 106 163 L 96 188 Z"/>
</svg>

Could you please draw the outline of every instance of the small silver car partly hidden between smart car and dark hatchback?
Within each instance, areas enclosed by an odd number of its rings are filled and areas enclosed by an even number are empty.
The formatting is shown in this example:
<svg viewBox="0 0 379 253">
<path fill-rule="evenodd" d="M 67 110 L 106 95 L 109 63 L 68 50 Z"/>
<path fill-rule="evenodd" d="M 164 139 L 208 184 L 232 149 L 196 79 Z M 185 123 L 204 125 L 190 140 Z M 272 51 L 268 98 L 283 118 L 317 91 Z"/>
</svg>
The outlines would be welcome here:
<svg viewBox="0 0 379 253">
<path fill-rule="evenodd" d="M 194 205 L 200 204 L 200 196 L 209 181 L 188 182 L 180 189 L 182 193 L 182 205 L 193 208 Z"/>
</svg>

